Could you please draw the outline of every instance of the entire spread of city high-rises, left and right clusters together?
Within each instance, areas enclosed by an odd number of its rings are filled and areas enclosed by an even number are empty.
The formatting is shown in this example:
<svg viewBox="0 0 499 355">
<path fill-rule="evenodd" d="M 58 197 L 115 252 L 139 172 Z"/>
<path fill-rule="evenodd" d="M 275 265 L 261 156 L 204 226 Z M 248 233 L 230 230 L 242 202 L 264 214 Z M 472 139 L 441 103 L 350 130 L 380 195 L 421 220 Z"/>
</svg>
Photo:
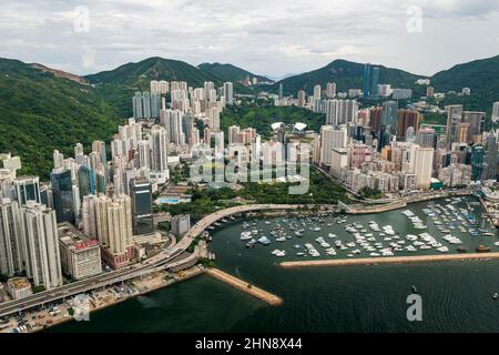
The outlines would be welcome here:
<svg viewBox="0 0 499 355">
<path fill-rule="evenodd" d="M 159 237 L 152 195 L 169 181 L 172 156 L 276 164 L 297 161 L 299 138 L 306 135 L 313 162 L 355 193 L 497 179 L 499 132 L 485 130 L 485 112 L 449 105 L 445 125 L 422 123 L 415 105 L 399 106 L 411 92 L 379 80 L 380 68 L 366 64 L 361 90 L 339 92 L 329 82 L 315 85 L 309 95 L 299 90 L 294 99 L 284 95 L 281 84 L 276 105 L 324 113 L 324 125 L 313 132 L 303 123 L 274 122 L 273 139 L 265 142 L 255 129 L 237 125 L 228 128 L 225 139 L 220 114 L 235 103 L 231 82 L 215 89 L 213 82 L 192 88 L 182 81 L 151 81 L 150 92 L 132 98 L 133 118 L 119 126 L 109 145 L 94 141 L 85 153 L 77 143 L 72 158 L 55 150 L 47 183 L 18 176 L 19 158 L 1 154 L 0 273 L 26 273 L 34 286 L 53 288 L 64 275 L 79 280 L 102 272 L 101 260 L 113 268 L 140 260 L 141 242 Z M 429 81 L 420 84 L 427 85 L 428 98 L 438 94 Z M 377 104 L 365 106 L 365 99 Z M 491 119 L 499 120 L 499 103 Z M 189 226 L 189 216 L 172 220 L 177 235 Z"/>
</svg>

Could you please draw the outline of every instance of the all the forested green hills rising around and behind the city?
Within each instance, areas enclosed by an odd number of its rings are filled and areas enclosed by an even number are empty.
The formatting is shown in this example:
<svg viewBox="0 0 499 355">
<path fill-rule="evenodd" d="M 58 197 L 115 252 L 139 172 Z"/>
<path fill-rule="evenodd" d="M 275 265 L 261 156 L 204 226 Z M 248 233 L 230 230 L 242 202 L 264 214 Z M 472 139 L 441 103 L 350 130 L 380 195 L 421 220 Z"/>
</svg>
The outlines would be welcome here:
<svg viewBox="0 0 499 355">
<path fill-rule="evenodd" d="M 207 72 L 207 65 L 211 72 Z M 91 84 L 86 84 L 77 82 L 81 80 L 77 75 L 0 59 L 0 152 L 21 155 L 21 173 L 47 178 L 52 168 L 54 149 L 72 155 L 77 142 L 89 148 L 93 140 L 109 140 L 116 132 L 116 125 L 130 116 L 133 92 L 147 90 L 151 80 L 182 80 L 192 87 L 213 81 L 221 85 L 226 80 L 235 81 L 238 73 L 246 73 L 230 64 L 200 67 L 204 70 L 181 61 L 150 58 L 88 75 L 84 79 Z M 393 87 L 414 89 L 414 82 L 421 78 L 378 67 L 379 82 Z M 336 60 L 322 69 L 281 82 L 285 92 L 294 95 L 301 89 L 312 93 L 316 83 L 325 88 L 327 82 L 336 82 L 338 91 L 345 91 L 361 88 L 363 74 L 364 64 Z M 462 103 L 467 110 L 490 112 L 492 102 L 499 101 L 499 57 L 456 65 L 435 74 L 431 82 L 437 92 L 471 88 L 470 97 L 448 95 L 444 104 Z M 272 87 L 275 91 L 277 88 L 278 83 Z M 234 90 L 237 93 L 251 92 L 236 82 Z M 318 130 L 324 115 L 296 108 L 243 105 L 228 108 L 221 118 L 223 129 L 232 124 L 254 126 L 264 136 L 269 135 L 269 124 L 276 121 L 304 122 L 309 129 Z"/>
</svg>

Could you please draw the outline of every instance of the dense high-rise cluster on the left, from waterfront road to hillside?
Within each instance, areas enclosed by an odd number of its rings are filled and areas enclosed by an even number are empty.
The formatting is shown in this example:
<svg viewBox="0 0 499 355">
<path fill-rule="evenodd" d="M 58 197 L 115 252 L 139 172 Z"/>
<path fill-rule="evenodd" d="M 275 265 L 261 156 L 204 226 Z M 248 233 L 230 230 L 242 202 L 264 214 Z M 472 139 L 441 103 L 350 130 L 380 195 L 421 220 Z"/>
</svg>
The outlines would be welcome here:
<svg viewBox="0 0 499 355">
<path fill-rule="evenodd" d="M 217 90 L 213 82 L 193 89 L 186 82 L 152 81 L 150 92 L 133 97 L 133 118 L 119 126 L 110 145 L 94 141 L 85 153 L 77 143 L 71 158 L 55 150 L 47 183 L 18 176 L 20 159 L 1 154 L 0 274 L 26 275 L 34 287 L 50 290 L 64 277 L 101 273 L 102 261 L 112 268 L 139 261 L 143 241 L 161 242 L 152 195 L 170 179 L 169 155 L 191 153 L 214 138 L 222 154 L 220 113 L 233 103 L 231 82 Z M 255 135 L 237 141 L 249 143 Z M 183 231 L 189 223 L 181 222 Z"/>
</svg>

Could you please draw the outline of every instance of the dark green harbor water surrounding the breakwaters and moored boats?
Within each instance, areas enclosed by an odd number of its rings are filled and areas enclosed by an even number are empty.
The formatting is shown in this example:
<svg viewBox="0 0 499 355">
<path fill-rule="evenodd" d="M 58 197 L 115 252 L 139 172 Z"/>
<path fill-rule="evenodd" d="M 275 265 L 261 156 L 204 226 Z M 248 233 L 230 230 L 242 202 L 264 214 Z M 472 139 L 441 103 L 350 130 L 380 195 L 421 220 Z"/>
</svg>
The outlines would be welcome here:
<svg viewBox="0 0 499 355">
<path fill-rule="evenodd" d="M 435 203 L 449 212 L 448 222 L 445 222 L 445 213 L 432 216 L 431 211 L 438 212 L 439 209 L 430 206 L 427 210 L 428 203 L 408 207 L 421 220 L 420 224 L 427 226 L 421 230 L 415 229 L 415 224 L 401 213 L 404 210 L 397 210 L 349 216 L 342 224 L 336 223 L 337 216 L 308 222 L 307 219 L 277 217 L 228 222 L 213 231 L 211 250 L 216 254 L 217 266 L 278 295 L 284 301 L 281 306 L 267 305 L 202 275 L 92 313 L 90 322 L 70 322 L 48 332 L 499 332 L 499 300 L 492 300 L 492 294 L 499 292 L 497 260 L 309 268 L 278 266 L 283 261 L 371 257 L 370 252 L 354 242 L 355 235 L 345 230 L 353 223 L 361 225 L 358 231 L 366 230 L 359 232 L 361 235 L 374 234 L 376 241 L 369 243 L 371 246 L 383 244 L 379 251 L 389 247 L 389 243 L 405 240 L 395 255 L 444 253 L 437 247 L 407 251 L 405 247 L 414 242 L 406 235 L 421 233 L 431 235 L 435 245 L 447 246 L 447 253 L 458 253 L 460 245 L 468 252 L 475 252 L 479 245 L 490 247 L 492 252 L 499 251 L 495 245 L 497 232 L 489 230 L 488 223 L 482 223 L 481 206 L 475 199 L 466 197 L 459 202 L 439 200 Z M 456 213 L 450 213 L 447 207 L 450 203 Z M 458 220 L 457 215 L 464 220 Z M 473 217 L 477 225 L 470 224 Z M 381 231 L 371 231 L 370 221 L 376 222 Z M 244 222 L 248 224 L 246 229 L 243 229 Z M 282 234 L 291 236 L 283 242 L 276 242 L 276 236 L 271 234 L 279 225 Z M 383 226 L 387 225 L 391 225 L 399 240 L 385 241 L 389 236 L 379 235 Z M 447 231 L 441 232 L 437 227 Z M 301 237 L 295 235 L 299 229 L 304 230 Z M 266 235 L 271 244 L 257 243 L 247 248 L 247 241 L 241 240 L 241 233 L 254 230 L 257 231 L 255 236 Z M 482 231 L 476 233 L 479 230 Z M 483 235 L 486 230 L 493 235 Z M 329 237 L 332 234 L 336 237 Z M 461 243 L 451 244 L 444 240 L 447 234 Z M 332 245 L 335 240 L 340 240 L 343 245 L 355 243 L 355 246 L 343 251 L 336 248 L 337 255 L 330 256 L 325 253 L 327 247 L 316 242 L 319 236 Z M 308 253 L 297 256 L 297 252 L 306 250 L 295 248 L 295 244 L 303 246 L 306 243 L 314 245 L 320 256 L 313 257 Z M 359 254 L 348 256 L 357 248 Z M 275 250 L 284 251 L 285 255 L 277 257 L 271 254 Z M 406 300 L 413 293 L 413 286 L 421 296 L 421 322 L 409 322 L 406 316 L 409 307 Z"/>
</svg>

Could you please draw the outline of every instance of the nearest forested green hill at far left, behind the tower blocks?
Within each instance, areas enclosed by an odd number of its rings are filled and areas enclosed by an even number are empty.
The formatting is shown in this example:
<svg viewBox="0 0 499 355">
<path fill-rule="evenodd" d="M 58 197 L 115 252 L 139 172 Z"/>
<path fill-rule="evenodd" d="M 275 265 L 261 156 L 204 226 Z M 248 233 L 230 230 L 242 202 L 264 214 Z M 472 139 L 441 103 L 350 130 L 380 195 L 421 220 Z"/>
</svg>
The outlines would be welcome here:
<svg viewBox="0 0 499 355">
<path fill-rule="evenodd" d="M 47 178 L 54 149 L 72 156 L 77 142 L 109 140 L 120 119 L 90 85 L 0 59 L 0 152 L 21 156 L 21 173 Z"/>
</svg>

